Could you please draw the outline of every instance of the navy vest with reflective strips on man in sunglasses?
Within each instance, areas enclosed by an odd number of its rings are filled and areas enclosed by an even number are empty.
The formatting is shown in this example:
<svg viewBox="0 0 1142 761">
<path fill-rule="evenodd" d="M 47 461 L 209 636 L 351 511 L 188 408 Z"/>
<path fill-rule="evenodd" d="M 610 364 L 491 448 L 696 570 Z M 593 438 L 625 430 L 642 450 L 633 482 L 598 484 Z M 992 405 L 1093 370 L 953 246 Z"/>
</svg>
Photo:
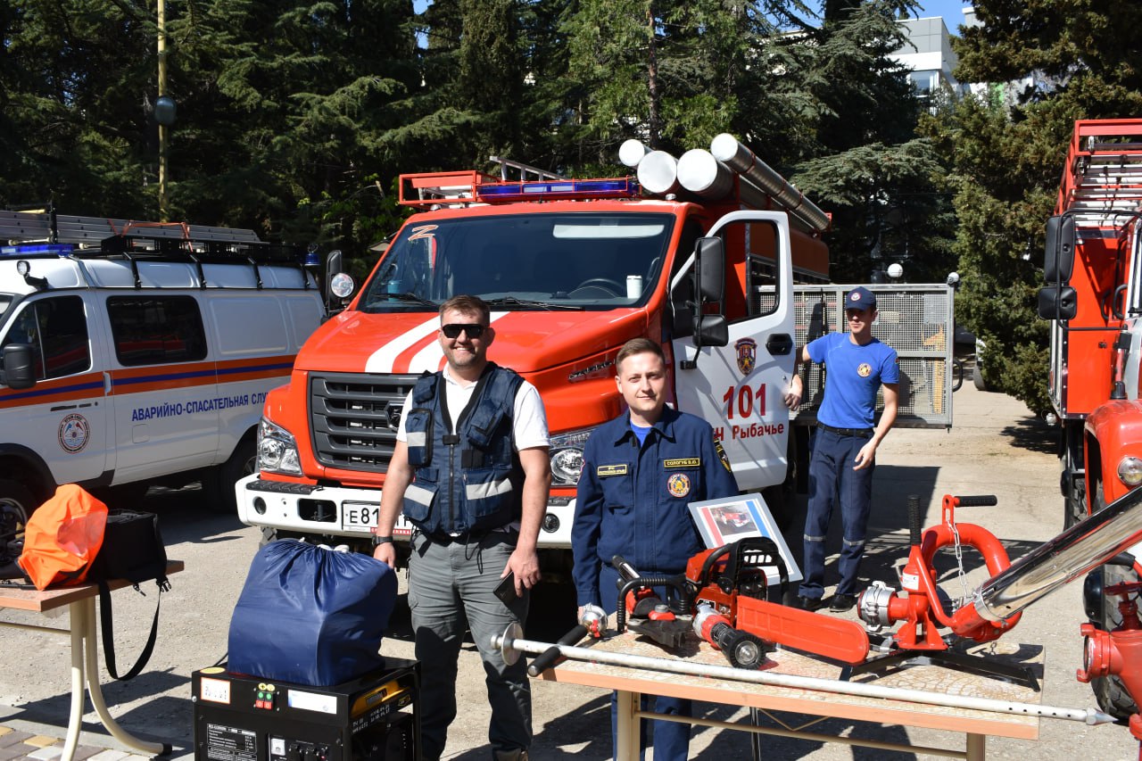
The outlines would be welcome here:
<svg viewBox="0 0 1142 761">
<path fill-rule="evenodd" d="M 447 409 L 445 384 L 433 373 L 412 388 L 404 431 L 416 478 L 404 492 L 404 515 L 427 534 L 499 528 L 521 513 L 523 468 L 512 417 L 523 378 L 489 362 L 464 410 Z"/>
</svg>

